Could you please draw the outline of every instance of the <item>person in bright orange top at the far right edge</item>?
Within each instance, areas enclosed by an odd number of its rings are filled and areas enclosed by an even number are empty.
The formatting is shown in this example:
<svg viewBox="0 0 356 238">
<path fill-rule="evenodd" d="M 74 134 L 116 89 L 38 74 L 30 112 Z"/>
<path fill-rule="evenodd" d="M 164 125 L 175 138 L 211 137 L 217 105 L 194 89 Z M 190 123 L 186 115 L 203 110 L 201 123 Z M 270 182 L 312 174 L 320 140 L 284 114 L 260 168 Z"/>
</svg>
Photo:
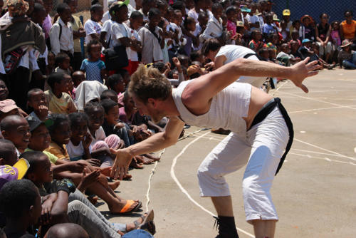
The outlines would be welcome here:
<svg viewBox="0 0 356 238">
<path fill-rule="evenodd" d="M 356 51 L 356 21 L 352 19 L 351 10 L 345 11 L 345 21 L 340 24 L 341 40 L 347 39 L 352 42 L 351 48 Z"/>
</svg>

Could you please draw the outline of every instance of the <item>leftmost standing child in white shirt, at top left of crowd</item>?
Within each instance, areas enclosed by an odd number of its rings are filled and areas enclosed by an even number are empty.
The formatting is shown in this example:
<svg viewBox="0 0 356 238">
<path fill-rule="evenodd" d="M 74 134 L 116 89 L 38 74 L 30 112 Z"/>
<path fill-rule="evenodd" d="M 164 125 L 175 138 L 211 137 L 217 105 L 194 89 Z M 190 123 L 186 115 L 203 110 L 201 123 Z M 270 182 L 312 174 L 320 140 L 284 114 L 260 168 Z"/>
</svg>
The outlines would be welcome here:
<svg viewBox="0 0 356 238">
<path fill-rule="evenodd" d="M 70 24 L 72 20 L 70 7 L 68 4 L 58 4 L 57 13 L 59 19 L 53 24 L 50 31 L 51 51 L 55 56 L 60 52 L 64 52 L 70 58 L 73 58 L 74 41 L 72 24 Z"/>
</svg>

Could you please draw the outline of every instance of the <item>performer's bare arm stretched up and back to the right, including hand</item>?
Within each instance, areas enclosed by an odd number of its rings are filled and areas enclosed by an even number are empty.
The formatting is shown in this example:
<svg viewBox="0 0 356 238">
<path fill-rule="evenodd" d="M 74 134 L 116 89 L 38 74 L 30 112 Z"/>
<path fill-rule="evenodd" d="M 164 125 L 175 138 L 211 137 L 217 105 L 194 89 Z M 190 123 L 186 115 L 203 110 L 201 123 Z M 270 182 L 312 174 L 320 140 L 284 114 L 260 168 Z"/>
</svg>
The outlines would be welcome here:
<svg viewBox="0 0 356 238">
<path fill-rule="evenodd" d="M 191 109 L 202 108 L 202 104 L 207 105 L 214 95 L 234 83 L 240 76 L 288 78 L 295 86 L 308 93 L 303 81 L 307 77 L 315 76 L 318 73 L 315 70 L 320 68 L 316 65 L 318 61 L 308 63 L 308 60 L 309 58 L 305 58 L 294 66 L 285 67 L 276 63 L 238 58 L 189 83 L 182 95 L 184 104 L 189 105 Z"/>
</svg>

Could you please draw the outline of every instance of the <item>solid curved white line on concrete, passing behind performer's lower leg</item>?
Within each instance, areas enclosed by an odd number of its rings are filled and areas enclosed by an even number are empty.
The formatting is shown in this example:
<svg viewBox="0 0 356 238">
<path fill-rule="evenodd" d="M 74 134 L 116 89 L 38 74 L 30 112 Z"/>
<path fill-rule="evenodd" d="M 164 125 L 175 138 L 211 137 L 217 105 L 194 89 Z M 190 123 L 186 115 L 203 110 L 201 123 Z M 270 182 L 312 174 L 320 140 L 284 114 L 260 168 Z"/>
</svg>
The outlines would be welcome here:
<svg viewBox="0 0 356 238">
<path fill-rule="evenodd" d="M 213 212 L 210 212 L 208 209 L 206 209 L 205 207 L 201 206 L 197 201 L 195 201 L 190 195 L 189 192 L 187 192 L 187 190 L 184 189 L 184 187 L 182 186 L 182 184 L 179 182 L 179 180 L 177 179 L 175 173 L 174 173 L 174 167 L 177 164 L 177 159 L 184 154 L 184 152 L 187 150 L 187 148 L 189 148 L 190 145 L 194 144 L 197 142 L 197 140 L 203 138 L 204 136 L 208 135 L 210 133 L 210 130 L 207 133 L 204 133 L 202 135 L 199 135 L 199 137 L 195 138 L 194 140 L 192 140 L 190 143 L 188 143 L 187 145 L 184 146 L 184 148 L 182 149 L 181 152 L 179 152 L 178 155 L 176 155 L 176 157 L 174 157 L 173 162 L 172 162 L 172 166 L 171 166 L 171 177 L 174 180 L 174 182 L 176 182 L 177 186 L 179 187 L 179 189 L 184 193 L 184 195 L 186 195 L 188 197 L 189 200 L 191 200 L 194 205 L 197 205 L 197 207 L 199 207 L 200 209 L 202 209 L 204 212 L 210 214 L 211 216 L 216 216 Z M 248 235 L 248 237 L 255 237 L 253 234 L 246 232 L 244 229 L 240 229 L 239 227 L 236 227 L 236 229 L 239 232 L 242 232 L 246 235 Z"/>
</svg>

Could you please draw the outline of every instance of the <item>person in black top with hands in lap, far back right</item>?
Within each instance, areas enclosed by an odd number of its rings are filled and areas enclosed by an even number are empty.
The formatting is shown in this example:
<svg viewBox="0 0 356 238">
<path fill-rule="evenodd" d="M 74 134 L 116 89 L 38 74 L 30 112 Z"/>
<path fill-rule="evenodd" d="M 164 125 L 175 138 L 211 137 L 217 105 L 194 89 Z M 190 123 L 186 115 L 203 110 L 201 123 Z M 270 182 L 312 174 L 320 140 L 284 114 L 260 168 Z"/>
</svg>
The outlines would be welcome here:
<svg viewBox="0 0 356 238">
<path fill-rule="evenodd" d="M 333 43 L 330 41 L 331 26 L 328 24 L 328 14 L 320 15 L 320 23 L 315 27 L 315 37 L 319 46 L 319 56 L 324 58 L 329 63 L 331 51 L 333 51 Z"/>
</svg>

